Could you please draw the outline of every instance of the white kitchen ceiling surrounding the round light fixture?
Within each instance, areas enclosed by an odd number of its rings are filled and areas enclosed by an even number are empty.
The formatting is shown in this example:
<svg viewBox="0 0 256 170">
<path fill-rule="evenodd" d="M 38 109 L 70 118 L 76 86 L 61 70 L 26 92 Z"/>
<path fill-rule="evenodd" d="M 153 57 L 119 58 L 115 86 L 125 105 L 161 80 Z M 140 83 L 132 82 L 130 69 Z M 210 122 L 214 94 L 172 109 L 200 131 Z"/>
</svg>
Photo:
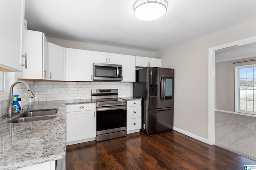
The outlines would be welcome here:
<svg viewBox="0 0 256 170">
<path fill-rule="evenodd" d="M 136 0 L 26 0 L 25 19 L 46 37 L 160 51 L 256 18 L 256 0 L 167 0 L 167 13 L 138 20 Z"/>
</svg>

